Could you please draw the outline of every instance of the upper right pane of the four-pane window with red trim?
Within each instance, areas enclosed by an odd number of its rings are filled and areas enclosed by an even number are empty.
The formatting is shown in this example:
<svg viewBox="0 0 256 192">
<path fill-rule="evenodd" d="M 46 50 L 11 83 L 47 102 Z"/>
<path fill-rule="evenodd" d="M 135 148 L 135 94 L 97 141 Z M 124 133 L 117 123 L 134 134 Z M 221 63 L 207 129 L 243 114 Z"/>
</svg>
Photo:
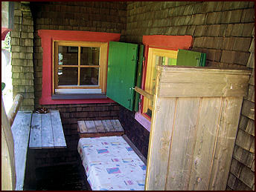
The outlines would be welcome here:
<svg viewBox="0 0 256 192">
<path fill-rule="evenodd" d="M 81 47 L 81 65 L 99 65 L 100 47 Z"/>
</svg>

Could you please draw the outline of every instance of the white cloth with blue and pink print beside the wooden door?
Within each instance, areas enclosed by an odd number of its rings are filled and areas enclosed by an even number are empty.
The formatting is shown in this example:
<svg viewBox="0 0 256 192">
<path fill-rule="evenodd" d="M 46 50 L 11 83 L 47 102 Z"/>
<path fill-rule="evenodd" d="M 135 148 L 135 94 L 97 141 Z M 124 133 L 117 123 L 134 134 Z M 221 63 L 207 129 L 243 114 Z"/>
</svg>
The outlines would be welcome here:
<svg viewBox="0 0 256 192">
<path fill-rule="evenodd" d="M 122 136 L 81 138 L 78 153 L 93 191 L 143 191 L 146 165 Z"/>
</svg>

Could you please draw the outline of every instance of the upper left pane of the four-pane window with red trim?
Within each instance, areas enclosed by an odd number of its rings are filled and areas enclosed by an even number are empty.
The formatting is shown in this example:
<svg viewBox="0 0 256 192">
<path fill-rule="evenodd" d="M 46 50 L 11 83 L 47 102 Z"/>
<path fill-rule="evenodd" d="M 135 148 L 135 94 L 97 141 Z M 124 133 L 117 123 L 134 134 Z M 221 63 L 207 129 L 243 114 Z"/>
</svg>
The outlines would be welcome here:
<svg viewBox="0 0 256 192">
<path fill-rule="evenodd" d="M 78 47 L 59 46 L 59 63 L 78 65 Z"/>
</svg>

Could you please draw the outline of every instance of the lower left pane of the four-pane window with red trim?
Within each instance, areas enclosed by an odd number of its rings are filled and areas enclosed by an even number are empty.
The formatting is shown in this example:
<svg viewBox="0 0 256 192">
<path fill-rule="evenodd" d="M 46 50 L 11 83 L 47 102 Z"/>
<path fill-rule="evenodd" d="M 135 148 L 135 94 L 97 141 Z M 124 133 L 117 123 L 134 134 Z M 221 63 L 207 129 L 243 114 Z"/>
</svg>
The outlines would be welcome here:
<svg viewBox="0 0 256 192">
<path fill-rule="evenodd" d="M 58 67 L 58 85 L 77 85 L 77 68 Z"/>
</svg>

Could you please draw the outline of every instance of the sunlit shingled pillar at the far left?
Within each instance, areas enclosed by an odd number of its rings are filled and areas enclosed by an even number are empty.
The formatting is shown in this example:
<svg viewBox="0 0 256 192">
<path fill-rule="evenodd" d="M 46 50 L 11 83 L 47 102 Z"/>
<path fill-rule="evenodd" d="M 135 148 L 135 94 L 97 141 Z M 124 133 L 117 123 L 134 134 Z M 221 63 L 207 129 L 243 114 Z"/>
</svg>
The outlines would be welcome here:
<svg viewBox="0 0 256 192">
<path fill-rule="evenodd" d="M 24 96 L 21 110 L 33 110 L 33 18 L 28 4 L 15 2 L 14 29 L 10 32 L 13 98 Z"/>
</svg>

